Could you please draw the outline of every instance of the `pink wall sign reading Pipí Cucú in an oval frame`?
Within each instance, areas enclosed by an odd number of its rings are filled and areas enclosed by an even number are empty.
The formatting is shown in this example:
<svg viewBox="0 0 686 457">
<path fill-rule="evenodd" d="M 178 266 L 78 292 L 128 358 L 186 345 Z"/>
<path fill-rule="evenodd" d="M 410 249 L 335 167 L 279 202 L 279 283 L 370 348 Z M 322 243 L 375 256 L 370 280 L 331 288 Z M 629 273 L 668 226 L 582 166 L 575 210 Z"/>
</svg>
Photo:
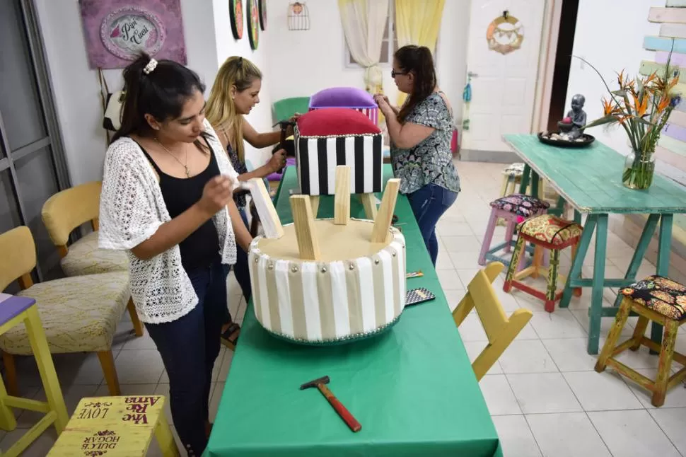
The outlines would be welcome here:
<svg viewBox="0 0 686 457">
<path fill-rule="evenodd" d="M 186 63 L 180 0 L 79 0 L 88 64 L 124 68 L 146 52 Z"/>
</svg>

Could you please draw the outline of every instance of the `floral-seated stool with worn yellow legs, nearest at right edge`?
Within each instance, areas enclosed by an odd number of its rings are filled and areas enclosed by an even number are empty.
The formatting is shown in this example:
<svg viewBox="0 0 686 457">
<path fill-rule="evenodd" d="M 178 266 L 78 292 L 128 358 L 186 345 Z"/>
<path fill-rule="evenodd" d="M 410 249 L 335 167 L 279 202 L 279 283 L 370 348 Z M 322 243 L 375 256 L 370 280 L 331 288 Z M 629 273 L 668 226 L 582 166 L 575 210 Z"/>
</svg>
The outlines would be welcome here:
<svg viewBox="0 0 686 457">
<path fill-rule="evenodd" d="M 651 391 L 653 406 L 662 406 L 668 388 L 678 386 L 686 378 L 686 356 L 674 351 L 679 327 L 686 322 L 686 287 L 665 277 L 649 276 L 620 290 L 620 295 L 623 295 L 624 299 L 595 364 L 595 371 L 600 373 L 609 365 L 617 373 L 627 376 L 639 386 Z M 632 311 L 639 315 L 634 334 L 629 340 L 617 345 L 617 340 Z M 651 320 L 665 328 L 662 345 L 645 336 Z M 658 374 L 654 381 L 617 361 L 616 357 L 619 354 L 627 349 L 636 351 L 641 345 L 660 352 Z M 684 367 L 670 376 L 672 360 L 678 361 Z"/>
</svg>

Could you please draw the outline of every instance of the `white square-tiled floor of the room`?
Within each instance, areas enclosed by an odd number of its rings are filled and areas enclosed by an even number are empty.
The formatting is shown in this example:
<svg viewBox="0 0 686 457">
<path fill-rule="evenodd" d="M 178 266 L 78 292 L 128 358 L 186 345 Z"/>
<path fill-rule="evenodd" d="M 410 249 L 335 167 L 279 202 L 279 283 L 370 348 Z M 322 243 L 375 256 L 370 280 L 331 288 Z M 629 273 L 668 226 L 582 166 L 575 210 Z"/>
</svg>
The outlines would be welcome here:
<svg viewBox="0 0 686 457">
<path fill-rule="evenodd" d="M 451 306 L 465 293 L 465 285 L 479 269 L 477 256 L 489 216 L 488 202 L 499 196 L 501 165 L 458 163 L 463 192 L 458 201 L 438 224 L 441 251 L 438 274 Z M 503 233 L 499 228 L 496 233 Z M 610 233 L 608 239 L 607 273 L 623 276 L 631 257 L 631 249 Z M 569 268 L 566 254 L 563 265 Z M 593 270 L 589 256 L 584 262 L 588 275 Z M 591 270 L 591 271 L 588 271 Z M 645 262 L 639 276 L 654 272 Z M 533 318 L 499 361 L 485 376 L 480 386 L 503 443 L 506 457 L 581 456 L 581 457 L 649 457 L 686 455 L 686 389 L 675 388 L 665 405 L 655 409 L 645 391 L 628 383 L 612 371 L 593 371 L 595 356 L 586 354 L 588 305 L 590 290 L 572 299 L 568 310 L 556 309 L 552 314 L 543 310 L 542 302 L 515 291 L 504 294 L 502 278 L 496 280 L 504 308 L 511 313 L 517 308 L 533 311 Z M 240 299 L 238 284 L 231 279 L 231 308 L 238 311 L 240 321 L 245 313 L 245 301 Z M 612 291 L 605 299 L 614 299 Z M 634 320 L 629 320 L 634 323 Z M 612 325 L 603 319 L 600 344 Z M 124 393 L 168 393 L 160 357 L 149 337 L 132 337 L 132 324 L 126 316 L 117 332 L 115 356 L 117 371 Z M 631 328 L 626 333 L 630 334 Z M 470 316 L 460 328 L 465 348 L 475 358 L 486 344 L 486 336 L 476 316 Z M 678 347 L 686 351 L 686 333 L 680 334 Z M 229 351 L 222 349 L 217 360 L 214 388 L 211 394 L 211 415 L 223 391 L 231 366 Z M 71 413 L 79 398 L 105 395 L 107 388 L 95 355 L 56 356 L 55 364 Z M 645 348 L 624 354 L 622 360 L 653 376 L 657 357 Z M 21 359 L 19 366 L 23 393 L 40 398 L 37 371 L 32 359 Z M 24 412 L 18 417 L 19 427 L 30 427 L 38 416 Z M 6 449 L 23 432 L 0 433 L 0 448 Z M 45 456 L 54 441 L 54 432 L 46 432 L 25 453 Z M 158 455 L 154 449 L 151 455 Z"/>
</svg>

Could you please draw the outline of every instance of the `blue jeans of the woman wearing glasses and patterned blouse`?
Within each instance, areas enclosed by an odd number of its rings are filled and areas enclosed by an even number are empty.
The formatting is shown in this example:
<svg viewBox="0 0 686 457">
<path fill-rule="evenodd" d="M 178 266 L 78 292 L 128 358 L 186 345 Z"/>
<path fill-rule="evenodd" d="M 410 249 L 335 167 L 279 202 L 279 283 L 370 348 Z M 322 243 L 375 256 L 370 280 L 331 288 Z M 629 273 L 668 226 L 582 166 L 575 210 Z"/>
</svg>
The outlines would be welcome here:
<svg viewBox="0 0 686 457">
<path fill-rule="evenodd" d="M 457 198 L 458 192 L 453 192 L 436 184 L 427 184 L 419 190 L 407 194 L 409 206 L 412 207 L 414 218 L 417 219 L 419 231 L 422 232 L 426 250 L 431 255 L 431 262 L 434 263 L 434 267 L 438 258 L 436 224 Z"/>
</svg>

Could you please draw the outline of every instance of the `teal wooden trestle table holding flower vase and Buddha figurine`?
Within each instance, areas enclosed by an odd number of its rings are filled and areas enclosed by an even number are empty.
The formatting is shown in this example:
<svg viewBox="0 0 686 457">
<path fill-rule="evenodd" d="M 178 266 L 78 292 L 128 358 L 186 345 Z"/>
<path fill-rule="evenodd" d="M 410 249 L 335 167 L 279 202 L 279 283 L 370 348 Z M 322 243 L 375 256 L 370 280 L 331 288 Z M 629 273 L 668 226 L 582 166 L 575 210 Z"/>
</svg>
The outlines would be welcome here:
<svg viewBox="0 0 686 457">
<path fill-rule="evenodd" d="M 531 180 L 532 195 L 537 195 L 538 179 L 544 178 L 560 195 L 561 201 L 574 207 L 574 219 L 577 222 L 581 222 L 581 214 L 586 214 L 577 255 L 572 262 L 559 306 L 569 306 L 574 288 L 593 288 L 591 308 L 588 310 L 591 321 L 588 328 L 588 354 L 598 354 L 600 319 L 615 316 L 619 305 L 618 298 L 615 306 L 603 307 L 603 288 L 624 287 L 634 282 L 658 223 L 660 241 L 656 273 L 661 276 L 669 275 L 673 216 L 686 213 L 686 188 L 661 175 L 655 175 L 649 190 L 627 189 L 622 185 L 624 156 L 598 140 L 591 146 L 580 149 L 548 146 L 531 134 L 504 135 L 504 140 L 525 163 L 520 192 L 525 192 Z M 627 274 L 623 278 L 605 278 L 609 214 L 649 214 Z M 593 278 L 582 279 L 581 265 L 594 231 Z M 661 325 L 653 323 L 651 338 L 661 342 Z"/>
</svg>

